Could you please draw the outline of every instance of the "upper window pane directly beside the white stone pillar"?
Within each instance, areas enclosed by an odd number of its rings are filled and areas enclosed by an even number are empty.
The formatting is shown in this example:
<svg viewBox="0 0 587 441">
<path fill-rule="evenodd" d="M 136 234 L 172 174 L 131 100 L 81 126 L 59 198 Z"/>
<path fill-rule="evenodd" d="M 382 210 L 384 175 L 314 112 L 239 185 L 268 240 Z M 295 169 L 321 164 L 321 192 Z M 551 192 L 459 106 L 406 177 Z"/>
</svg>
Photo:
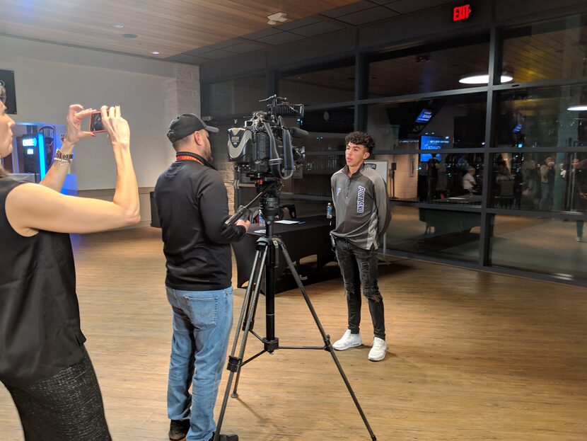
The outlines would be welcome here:
<svg viewBox="0 0 587 441">
<path fill-rule="evenodd" d="M 207 84 L 207 113 L 211 116 L 250 115 L 254 110 L 265 110 L 267 98 L 265 75 L 219 81 Z"/>
</svg>

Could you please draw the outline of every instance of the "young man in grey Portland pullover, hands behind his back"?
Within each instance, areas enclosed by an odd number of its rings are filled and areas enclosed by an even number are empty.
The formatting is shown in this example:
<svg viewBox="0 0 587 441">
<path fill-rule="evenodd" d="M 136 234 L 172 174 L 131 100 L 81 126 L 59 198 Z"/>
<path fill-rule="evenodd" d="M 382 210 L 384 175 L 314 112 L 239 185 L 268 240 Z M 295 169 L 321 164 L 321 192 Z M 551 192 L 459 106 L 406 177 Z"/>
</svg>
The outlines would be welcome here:
<svg viewBox="0 0 587 441">
<path fill-rule="evenodd" d="M 347 291 L 348 329 L 332 347 L 347 350 L 362 344 L 361 287 L 373 321 L 373 345 L 368 359 L 385 358 L 385 314 L 383 297 L 377 283 L 377 250 L 385 234 L 391 214 L 383 178 L 364 164 L 375 143 L 364 132 L 351 132 L 344 140 L 347 165 L 330 179 L 332 200 L 336 210 L 335 241 L 344 289 Z"/>
</svg>

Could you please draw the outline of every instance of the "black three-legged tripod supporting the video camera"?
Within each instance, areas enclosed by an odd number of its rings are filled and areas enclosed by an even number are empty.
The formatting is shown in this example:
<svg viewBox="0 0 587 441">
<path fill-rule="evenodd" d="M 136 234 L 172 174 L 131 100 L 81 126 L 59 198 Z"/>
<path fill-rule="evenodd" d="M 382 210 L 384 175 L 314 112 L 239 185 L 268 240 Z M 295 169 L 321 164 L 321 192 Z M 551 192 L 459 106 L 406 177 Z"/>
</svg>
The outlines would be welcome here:
<svg viewBox="0 0 587 441">
<path fill-rule="evenodd" d="M 254 200 L 250 202 L 255 202 L 258 198 L 261 198 L 261 209 L 263 215 L 266 219 L 266 226 L 265 226 L 265 236 L 260 237 L 257 240 L 256 246 L 256 253 L 255 253 L 255 262 L 253 264 L 249 283 L 247 290 L 245 292 L 245 298 L 243 300 L 243 307 L 240 310 L 240 317 L 238 319 L 238 325 L 236 326 L 236 333 L 233 341 L 233 347 L 231 350 L 231 355 L 228 357 L 228 366 L 226 367 L 231 373 L 228 376 L 228 383 L 226 384 L 226 391 L 224 393 L 224 398 L 222 401 L 222 406 L 220 410 L 220 415 L 218 419 L 218 424 L 216 425 L 216 433 L 214 435 L 214 441 L 219 441 L 219 434 L 222 426 L 222 421 L 224 418 L 224 413 L 226 412 L 226 405 L 228 403 L 228 396 L 230 394 L 231 385 L 233 383 L 234 375 L 236 374 L 236 380 L 234 382 L 234 389 L 232 393 L 233 398 L 237 398 L 237 387 L 238 387 L 238 380 L 240 377 L 240 370 L 241 368 L 246 365 L 248 362 L 255 360 L 255 358 L 259 357 L 264 353 L 273 353 L 277 349 L 321 349 L 326 350 L 327 352 L 332 355 L 332 360 L 334 360 L 335 364 L 337 365 L 338 371 L 344 384 L 346 384 L 347 389 L 349 389 L 349 394 L 351 394 L 351 398 L 354 401 L 357 411 L 361 415 L 363 422 L 368 430 L 369 436 L 371 440 L 376 441 L 376 436 L 371 430 L 371 425 L 369 425 L 368 420 L 359 404 L 359 401 L 356 399 L 354 391 L 347 379 L 347 376 L 344 374 L 342 370 L 342 366 L 339 363 L 339 360 L 335 354 L 335 350 L 332 348 L 332 344 L 330 343 L 330 336 L 326 334 L 324 328 L 322 327 L 322 323 L 320 323 L 320 319 L 318 319 L 318 315 L 314 307 L 310 302 L 310 298 L 306 293 L 306 289 L 303 287 L 301 282 L 300 276 L 296 271 L 294 263 L 292 263 L 291 258 L 289 257 L 289 253 L 286 250 L 285 244 L 281 241 L 281 239 L 273 236 L 273 224 L 275 220 L 275 214 L 277 214 L 279 208 L 279 196 L 277 195 L 277 191 L 275 190 L 274 183 L 269 184 L 268 188 L 255 197 Z M 246 208 L 246 207 L 245 207 Z M 236 214 L 235 214 L 236 216 Z M 234 218 L 234 216 L 233 216 Z M 231 218 L 231 219 L 233 219 Z M 229 219 L 229 221 L 231 220 Z M 228 222 L 228 221 L 227 221 Z M 279 258 L 279 252 L 283 255 L 286 260 L 287 266 L 291 271 L 291 274 L 294 275 L 294 279 L 296 280 L 296 284 L 298 285 L 299 290 L 301 291 L 303 298 L 306 300 L 306 304 L 310 309 L 310 314 L 312 314 L 313 319 L 318 326 L 318 331 L 322 336 L 322 340 L 324 340 L 323 346 L 280 346 L 279 345 L 279 338 L 275 336 L 275 275 L 274 269 L 277 268 L 277 259 Z M 259 300 L 260 290 L 262 288 L 262 277 L 265 274 L 265 314 L 266 314 L 266 336 L 265 338 L 259 336 L 253 330 L 253 325 L 255 321 L 255 313 L 257 311 L 257 302 Z M 238 346 L 238 340 L 240 339 L 240 333 L 243 332 L 243 336 L 240 342 L 240 349 L 238 350 L 238 355 L 236 355 L 236 350 Z M 243 361 L 243 357 L 245 355 L 245 346 L 247 345 L 247 339 L 249 333 L 252 333 L 258 340 L 263 343 L 263 350 L 259 353 L 252 355 L 252 357 L 248 358 L 248 360 Z"/>
</svg>

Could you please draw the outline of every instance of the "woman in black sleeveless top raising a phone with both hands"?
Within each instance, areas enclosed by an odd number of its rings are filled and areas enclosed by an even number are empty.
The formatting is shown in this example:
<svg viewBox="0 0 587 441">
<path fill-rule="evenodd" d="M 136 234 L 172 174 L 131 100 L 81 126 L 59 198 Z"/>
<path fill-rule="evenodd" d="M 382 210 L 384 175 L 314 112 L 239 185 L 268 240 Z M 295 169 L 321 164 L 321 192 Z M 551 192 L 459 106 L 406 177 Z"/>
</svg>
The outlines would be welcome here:
<svg viewBox="0 0 587 441">
<path fill-rule="evenodd" d="M 0 87 L 0 96 L 3 96 Z M 12 151 L 14 121 L 0 100 L 0 154 Z M 113 202 L 59 193 L 75 145 L 91 132 L 93 112 L 69 106 L 66 136 L 39 183 L 0 166 L 0 380 L 10 392 L 25 440 L 110 440 L 100 388 L 80 328 L 74 256 L 68 233 L 139 222 L 130 133 L 120 107 L 103 106 L 117 168 Z"/>
</svg>

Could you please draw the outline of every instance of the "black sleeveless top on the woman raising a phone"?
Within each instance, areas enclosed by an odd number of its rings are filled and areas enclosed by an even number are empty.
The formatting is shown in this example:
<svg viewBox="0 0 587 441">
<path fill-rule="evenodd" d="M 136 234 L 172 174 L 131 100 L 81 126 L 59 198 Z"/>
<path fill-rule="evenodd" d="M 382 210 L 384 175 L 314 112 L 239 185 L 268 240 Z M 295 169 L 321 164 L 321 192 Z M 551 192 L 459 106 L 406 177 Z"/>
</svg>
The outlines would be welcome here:
<svg viewBox="0 0 587 441">
<path fill-rule="evenodd" d="M 82 358 L 74 254 L 69 234 L 21 236 L 6 196 L 21 181 L 0 178 L 0 380 L 24 386 Z"/>
</svg>

